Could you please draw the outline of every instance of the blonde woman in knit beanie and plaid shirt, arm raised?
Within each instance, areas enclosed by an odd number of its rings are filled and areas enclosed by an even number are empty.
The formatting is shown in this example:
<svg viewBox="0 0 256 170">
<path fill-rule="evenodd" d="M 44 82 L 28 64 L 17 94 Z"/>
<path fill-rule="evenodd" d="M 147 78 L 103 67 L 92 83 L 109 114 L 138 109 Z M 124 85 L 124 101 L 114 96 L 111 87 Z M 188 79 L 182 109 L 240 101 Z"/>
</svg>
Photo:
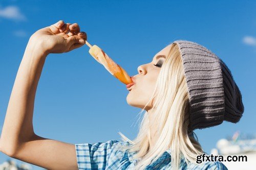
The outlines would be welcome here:
<svg viewBox="0 0 256 170">
<path fill-rule="evenodd" d="M 3 153 L 47 169 L 227 169 L 218 161 L 197 163 L 204 152 L 193 130 L 237 123 L 242 96 L 221 59 L 190 41 L 175 41 L 138 67 L 126 98 L 145 110 L 135 140 L 121 134 L 122 142 L 70 144 L 36 135 L 34 98 L 47 55 L 74 50 L 86 39 L 77 23 L 62 20 L 31 36 L 7 108 Z"/>
</svg>

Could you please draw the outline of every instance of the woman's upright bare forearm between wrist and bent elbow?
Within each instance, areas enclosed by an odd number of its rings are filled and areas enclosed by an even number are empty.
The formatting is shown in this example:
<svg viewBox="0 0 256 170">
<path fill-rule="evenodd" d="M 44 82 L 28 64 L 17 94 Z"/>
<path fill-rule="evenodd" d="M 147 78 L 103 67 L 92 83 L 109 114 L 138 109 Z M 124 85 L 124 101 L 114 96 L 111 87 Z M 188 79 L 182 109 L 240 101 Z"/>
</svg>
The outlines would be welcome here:
<svg viewBox="0 0 256 170">
<path fill-rule="evenodd" d="M 18 147 L 19 143 L 28 141 L 34 135 L 32 119 L 35 93 L 46 56 L 38 45 L 29 41 L 6 112 L 1 135 L 1 145 L 5 143 L 5 147 Z"/>
</svg>

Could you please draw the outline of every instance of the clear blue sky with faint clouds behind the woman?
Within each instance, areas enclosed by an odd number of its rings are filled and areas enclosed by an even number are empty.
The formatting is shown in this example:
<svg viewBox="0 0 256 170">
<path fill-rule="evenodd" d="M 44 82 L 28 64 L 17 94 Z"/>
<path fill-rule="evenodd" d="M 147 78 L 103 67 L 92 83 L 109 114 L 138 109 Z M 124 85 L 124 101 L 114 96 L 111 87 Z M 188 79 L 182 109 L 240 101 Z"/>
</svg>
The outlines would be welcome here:
<svg viewBox="0 0 256 170">
<path fill-rule="evenodd" d="M 253 1 L 1 1 L 0 125 L 29 37 L 64 20 L 77 22 L 129 75 L 169 43 L 197 42 L 230 68 L 245 112 L 240 122 L 196 130 L 206 152 L 240 130 L 255 134 L 256 3 Z M 84 45 L 47 57 L 37 87 L 33 125 L 37 135 L 69 143 L 134 139 L 139 108 L 126 103 L 124 84 Z M 0 154 L 0 162 L 8 157 Z M 18 161 L 17 161 L 18 162 Z M 41 169 L 33 166 L 33 169 Z"/>
</svg>

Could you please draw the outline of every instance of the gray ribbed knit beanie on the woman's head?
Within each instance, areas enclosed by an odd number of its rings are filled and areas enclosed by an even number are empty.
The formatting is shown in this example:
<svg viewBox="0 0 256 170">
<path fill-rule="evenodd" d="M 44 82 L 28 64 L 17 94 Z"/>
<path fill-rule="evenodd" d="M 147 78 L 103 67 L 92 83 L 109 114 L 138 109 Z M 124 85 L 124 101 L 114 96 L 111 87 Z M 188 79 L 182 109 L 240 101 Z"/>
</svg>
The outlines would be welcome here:
<svg viewBox="0 0 256 170">
<path fill-rule="evenodd" d="M 241 92 L 226 64 L 206 47 L 177 40 L 189 92 L 189 130 L 239 122 L 244 112 Z"/>
</svg>

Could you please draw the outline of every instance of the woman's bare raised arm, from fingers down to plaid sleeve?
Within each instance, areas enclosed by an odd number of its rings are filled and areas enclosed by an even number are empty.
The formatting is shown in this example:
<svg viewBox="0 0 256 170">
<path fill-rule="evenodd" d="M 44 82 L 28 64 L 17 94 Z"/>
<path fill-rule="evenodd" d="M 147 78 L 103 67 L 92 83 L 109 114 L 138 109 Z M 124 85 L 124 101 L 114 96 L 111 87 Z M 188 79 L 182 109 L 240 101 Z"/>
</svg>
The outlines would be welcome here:
<svg viewBox="0 0 256 170">
<path fill-rule="evenodd" d="M 72 31 L 66 35 L 61 28 Z M 70 25 L 61 20 L 30 37 L 11 92 L 0 139 L 1 152 L 47 169 L 78 169 L 75 145 L 36 135 L 32 120 L 36 88 L 46 57 L 82 46 L 87 36 L 79 32 L 76 23 Z"/>
</svg>

